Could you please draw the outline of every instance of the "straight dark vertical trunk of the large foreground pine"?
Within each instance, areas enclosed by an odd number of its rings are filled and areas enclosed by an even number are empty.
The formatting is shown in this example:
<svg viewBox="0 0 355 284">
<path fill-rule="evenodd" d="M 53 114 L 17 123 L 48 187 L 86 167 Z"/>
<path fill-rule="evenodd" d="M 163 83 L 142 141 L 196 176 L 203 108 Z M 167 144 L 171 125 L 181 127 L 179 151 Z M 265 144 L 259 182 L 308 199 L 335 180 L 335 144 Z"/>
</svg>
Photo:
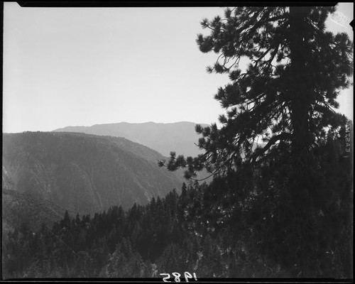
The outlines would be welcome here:
<svg viewBox="0 0 355 284">
<path fill-rule="evenodd" d="M 307 87 L 305 54 L 305 31 L 307 31 L 307 7 L 290 7 L 290 96 L 292 133 L 293 173 L 290 177 L 290 190 L 293 198 L 293 237 L 297 242 L 295 261 L 300 267 L 300 277 L 315 276 L 315 253 L 313 248 L 317 232 L 310 227 L 313 217 L 312 197 L 312 158 L 310 153 L 309 114 L 310 95 Z"/>
</svg>

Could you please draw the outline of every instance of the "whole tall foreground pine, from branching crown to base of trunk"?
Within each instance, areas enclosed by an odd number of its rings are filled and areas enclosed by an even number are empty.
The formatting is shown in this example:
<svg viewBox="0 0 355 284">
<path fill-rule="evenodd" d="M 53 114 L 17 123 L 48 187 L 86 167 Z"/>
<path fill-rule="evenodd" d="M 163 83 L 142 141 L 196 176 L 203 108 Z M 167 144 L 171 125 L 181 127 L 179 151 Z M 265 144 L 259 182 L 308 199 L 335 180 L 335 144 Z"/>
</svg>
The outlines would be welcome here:
<svg viewBox="0 0 355 284">
<path fill-rule="evenodd" d="M 329 207 L 320 199 L 324 176 L 319 150 L 324 138 L 337 136 L 344 124 L 344 116 L 335 112 L 337 96 L 349 87 L 352 74 L 353 43 L 346 33 L 326 31 L 325 21 L 334 11 L 324 6 L 236 7 L 225 9 L 223 18 L 204 19 L 202 28 L 210 33 L 198 35 L 197 44 L 203 53 L 218 55 L 207 71 L 231 80 L 215 95 L 226 115 L 219 116 L 220 129 L 217 124 L 196 126 L 204 154 L 185 158 L 171 153 L 167 164 L 160 163 L 168 170 L 187 168 L 186 178 L 206 168 L 212 175 L 247 180 L 231 187 L 249 190 L 244 207 L 256 200 L 253 175 L 261 166 L 277 165 L 284 180 L 274 187 L 283 189 L 283 202 L 290 205 L 285 209 L 285 236 L 290 238 L 283 249 L 293 251 L 295 275 L 303 277 L 317 271 L 322 239 L 318 214 Z M 241 62 L 248 62 L 247 67 Z M 274 172 L 263 181 L 280 181 L 276 179 Z M 275 204 L 266 205 L 271 210 Z"/>
</svg>

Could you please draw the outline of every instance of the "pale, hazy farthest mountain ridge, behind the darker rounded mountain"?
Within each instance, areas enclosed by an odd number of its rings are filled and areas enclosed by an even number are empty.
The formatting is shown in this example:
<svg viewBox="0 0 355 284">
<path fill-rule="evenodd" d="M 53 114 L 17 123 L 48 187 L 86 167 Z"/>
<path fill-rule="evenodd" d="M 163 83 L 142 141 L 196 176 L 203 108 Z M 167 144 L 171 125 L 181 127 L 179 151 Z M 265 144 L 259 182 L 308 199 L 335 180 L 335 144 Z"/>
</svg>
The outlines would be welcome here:
<svg viewBox="0 0 355 284">
<path fill-rule="evenodd" d="M 202 151 L 195 145 L 200 136 L 195 131 L 195 123 L 176 122 L 173 124 L 96 124 L 93 126 L 67 126 L 54 131 L 82 132 L 96 135 L 124 137 L 130 141 L 141 143 L 149 148 L 168 156 L 170 151 L 177 154 L 196 156 Z M 207 124 L 202 124 L 207 126 Z"/>
</svg>

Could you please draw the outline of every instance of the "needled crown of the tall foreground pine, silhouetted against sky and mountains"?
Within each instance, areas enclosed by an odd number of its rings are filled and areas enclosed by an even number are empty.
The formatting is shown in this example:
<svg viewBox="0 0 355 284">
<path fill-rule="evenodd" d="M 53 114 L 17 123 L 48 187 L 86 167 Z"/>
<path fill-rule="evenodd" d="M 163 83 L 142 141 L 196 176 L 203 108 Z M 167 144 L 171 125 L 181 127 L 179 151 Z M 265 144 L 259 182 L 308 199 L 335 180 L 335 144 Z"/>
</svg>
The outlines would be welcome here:
<svg viewBox="0 0 355 284">
<path fill-rule="evenodd" d="M 197 44 L 203 53 L 218 54 L 207 71 L 226 73 L 231 80 L 215 95 L 226 115 L 219 116 L 221 129 L 196 127 L 204 154 L 171 153 L 168 170 L 187 168 L 186 178 L 202 168 L 228 173 L 261 164 L 280 150 L 305 170 L 319 139 L 339 127 L 336 99 L 340 89 L 349 87 L 352 72 L 349 37 L 325 31 L 324 22 L 334 11 L 237 7 L 225 9 L 224 18 L 204 19 L 202 28 L 211 32 L 198 35 Z M 239 65 L 243 60 L 249 62 L 246 70 Z"/>
</svg>

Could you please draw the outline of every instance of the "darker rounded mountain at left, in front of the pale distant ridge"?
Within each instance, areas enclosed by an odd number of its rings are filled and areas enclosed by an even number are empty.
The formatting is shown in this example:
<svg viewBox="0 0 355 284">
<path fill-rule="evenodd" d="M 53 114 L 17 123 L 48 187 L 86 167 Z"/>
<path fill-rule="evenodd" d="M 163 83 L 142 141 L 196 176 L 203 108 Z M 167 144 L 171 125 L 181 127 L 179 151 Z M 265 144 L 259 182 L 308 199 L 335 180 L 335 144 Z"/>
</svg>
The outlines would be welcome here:
<svg viewBox="0 0 355 284">
<path fill-rule="evenodd" d="M 3 189 L 40 195 L 74 214 L 164 196 L 182 178 L 158 168 L 156 151 L 125 138 L 84 133 L 3 135 Z M 181 174 L 180 174 L 181 176 Z M 3 190 L 4 197 L 4 190 Z M 25 198 L 23 196 L 17 198 Z"/>
</svg>

